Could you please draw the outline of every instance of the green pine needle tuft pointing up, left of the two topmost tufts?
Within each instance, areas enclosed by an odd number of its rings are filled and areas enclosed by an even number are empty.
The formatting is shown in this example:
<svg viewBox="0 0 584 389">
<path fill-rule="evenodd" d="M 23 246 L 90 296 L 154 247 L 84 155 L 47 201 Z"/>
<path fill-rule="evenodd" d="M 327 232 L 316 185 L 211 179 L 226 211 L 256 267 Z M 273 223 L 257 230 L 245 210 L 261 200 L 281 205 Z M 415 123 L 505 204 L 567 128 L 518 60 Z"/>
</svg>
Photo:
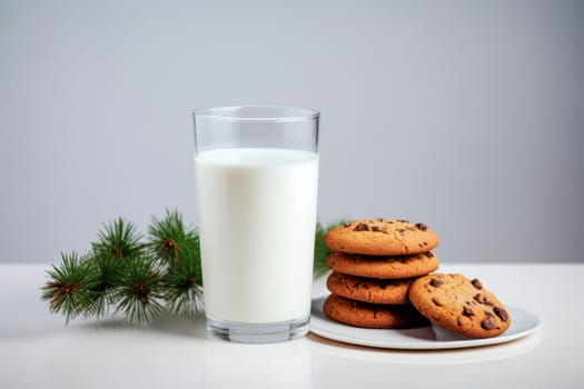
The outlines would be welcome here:
<svg viewBox="0 0 584 389">
<path fill-rule="evenodd" d="M 103 225 L 98 232 L 98 242 L 92 243 L 96 253 L 107 252 L 115 259 L 135 257 L 143 250 L 141 236 L 136 232 L 131 221 L 118 218 L 110 225 Z"/>
</svg>

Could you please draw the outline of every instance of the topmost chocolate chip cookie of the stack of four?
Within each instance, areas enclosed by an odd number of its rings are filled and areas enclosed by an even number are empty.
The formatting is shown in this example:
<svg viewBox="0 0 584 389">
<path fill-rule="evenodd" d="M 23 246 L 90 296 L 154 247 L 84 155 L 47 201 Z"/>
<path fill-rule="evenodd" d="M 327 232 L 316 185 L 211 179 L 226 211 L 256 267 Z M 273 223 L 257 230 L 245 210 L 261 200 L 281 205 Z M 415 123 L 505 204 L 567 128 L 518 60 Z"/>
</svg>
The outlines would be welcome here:
<svg viewBox="0 0 584 389">
<path fill-rule="evenodd" d="M 438 246 L 438 236 L 422 222 L 363 219 L 329 230 L 325 243 L 333 251 L 404 256 L 434 249 Z"/>
</svg>

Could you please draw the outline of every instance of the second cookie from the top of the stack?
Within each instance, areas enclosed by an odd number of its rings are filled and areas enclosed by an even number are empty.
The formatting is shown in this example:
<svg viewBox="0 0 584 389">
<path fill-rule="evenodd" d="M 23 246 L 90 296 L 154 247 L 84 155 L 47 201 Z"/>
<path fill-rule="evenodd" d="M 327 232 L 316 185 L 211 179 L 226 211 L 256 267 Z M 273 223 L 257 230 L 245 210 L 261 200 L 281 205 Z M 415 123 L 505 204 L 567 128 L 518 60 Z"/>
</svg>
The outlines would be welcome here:
<svg viewBox="0 0 584 389">
<path fill-rule="evenodd" d="M 327 266 L 338 272 L 380 279 L 399 279 L 425 276 L 438 268 L 438 257 L 433 252 L 410 256 L 360 256 L 331 252 Z"/>
</svg>

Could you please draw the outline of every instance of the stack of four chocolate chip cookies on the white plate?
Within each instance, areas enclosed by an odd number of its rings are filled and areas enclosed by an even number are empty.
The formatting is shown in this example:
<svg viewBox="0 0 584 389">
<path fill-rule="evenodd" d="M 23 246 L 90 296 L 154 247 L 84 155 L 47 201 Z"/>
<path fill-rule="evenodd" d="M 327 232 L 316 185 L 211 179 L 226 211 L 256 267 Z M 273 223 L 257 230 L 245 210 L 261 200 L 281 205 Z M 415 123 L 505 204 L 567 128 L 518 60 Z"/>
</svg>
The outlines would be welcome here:
<svg viewBox="0 0 584 389">
<path fill-rule="evenodd" d="M 438 268 L 432 250 L 438 236 L 407 220 L 356 220 L 331 229 L 325 243 L 333 250 L 327 266 L 331 295 L 324 305 L 333 320 L 364 328 L 427 325 L 409 302 L 414 280 Z"/>
</svg>

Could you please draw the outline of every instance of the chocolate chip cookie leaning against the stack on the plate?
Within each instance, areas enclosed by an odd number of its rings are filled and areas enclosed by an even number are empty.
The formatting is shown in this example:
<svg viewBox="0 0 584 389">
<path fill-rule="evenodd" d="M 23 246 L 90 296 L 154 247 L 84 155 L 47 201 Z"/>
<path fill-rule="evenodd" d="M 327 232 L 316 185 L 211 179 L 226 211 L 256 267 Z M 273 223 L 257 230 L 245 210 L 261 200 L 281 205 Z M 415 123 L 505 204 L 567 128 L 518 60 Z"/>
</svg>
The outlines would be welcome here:
<svg viewBox="0 0 584 389">
<path fill-rule="evenodd" d="M 505 307 L 483 283 L 463 275 L 433 273 L 416 279 L 409 300 L 434 323 L 469 338 L 491 338 L 511 326 Z"/>
</svg>

